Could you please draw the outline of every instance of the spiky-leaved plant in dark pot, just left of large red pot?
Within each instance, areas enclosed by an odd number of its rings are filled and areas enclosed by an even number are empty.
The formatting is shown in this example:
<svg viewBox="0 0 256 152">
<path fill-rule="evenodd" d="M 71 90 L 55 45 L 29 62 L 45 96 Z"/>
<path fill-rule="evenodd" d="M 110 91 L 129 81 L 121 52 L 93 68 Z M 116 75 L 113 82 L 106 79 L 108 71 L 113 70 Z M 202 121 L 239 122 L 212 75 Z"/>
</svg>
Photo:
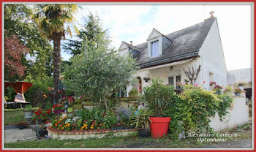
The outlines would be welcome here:
<svg viewBox="0 0 256 152">
<path fill-rule="evenodd" d="M 148 137 L 149 125 L 151 123 L 150 117 L 153 116 L 151 110 L 146 108 L 140 108 L 140 110 L 135 110 L 135 114 L 132 115 L 131 122 L 135 128 L 138 128 L 138 134 L 140 137 Z"/>
</svg>

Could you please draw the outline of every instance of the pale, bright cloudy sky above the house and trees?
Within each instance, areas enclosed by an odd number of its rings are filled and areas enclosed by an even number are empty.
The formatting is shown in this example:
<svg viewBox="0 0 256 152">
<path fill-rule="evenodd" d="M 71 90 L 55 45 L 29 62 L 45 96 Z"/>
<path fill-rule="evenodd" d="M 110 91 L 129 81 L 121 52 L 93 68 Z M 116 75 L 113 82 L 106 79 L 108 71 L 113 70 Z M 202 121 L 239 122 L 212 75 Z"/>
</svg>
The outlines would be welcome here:
<svg viewBox="0 0 256 152">
<path fill-rule="evenodd" d="M 170 34 L 203 22 L 214 11 L 222 39 L 227 70 L 252 67 L 252 5 L 251 4 L 80 4 L 76 24 L 83 23 L 89 12 L 99 16 L 108 29 L 111 45 L 121 42 L 133 45 L 146 42 L 153 28 Z M 69 37 L 67 37 L 69 38 Z M 74 36 L 72 39 L 75 39 Z M 68 60 L 70 55 L 62 51 Z"/>
</svg>

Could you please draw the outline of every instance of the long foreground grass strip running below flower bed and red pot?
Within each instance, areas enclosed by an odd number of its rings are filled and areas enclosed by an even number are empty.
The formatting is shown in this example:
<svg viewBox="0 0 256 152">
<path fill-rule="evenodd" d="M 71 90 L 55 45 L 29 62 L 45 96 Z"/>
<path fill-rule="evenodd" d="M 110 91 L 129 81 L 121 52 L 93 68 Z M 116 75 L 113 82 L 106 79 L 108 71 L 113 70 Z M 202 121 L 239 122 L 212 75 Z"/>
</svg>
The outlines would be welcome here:
<svg viewBox="0 0 256 152">
<path fill-rule="evenodd" d="M 91 140 L 34 140 L 26 142 L 14 142 L 4 145 L 5 148 L 135 148 L 135 147 L 195 147 L 200 146 L 200 142 L 195 140 L 179 140 L 172 142 L 168 138 L 153 139 L 151 137 L 141 138 L 130 137 L 111 137 Z"/>
</svg>

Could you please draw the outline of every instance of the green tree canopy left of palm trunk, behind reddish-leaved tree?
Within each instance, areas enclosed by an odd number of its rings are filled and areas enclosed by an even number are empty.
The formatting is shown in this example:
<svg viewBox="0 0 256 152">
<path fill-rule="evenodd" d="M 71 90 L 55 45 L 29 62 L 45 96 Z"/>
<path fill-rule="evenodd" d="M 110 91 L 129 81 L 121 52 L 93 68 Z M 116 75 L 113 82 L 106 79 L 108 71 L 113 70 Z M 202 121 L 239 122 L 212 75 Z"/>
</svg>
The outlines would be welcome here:
<svg viewBox="0 0 256 152">
<path fill-rule="evenodd" d="M 29 48 L 29 56 L 21 64 L 26 67 L 26 79 L 42 79 L 52 73 L 52 49 L 50 42 L 41 37 L 38 27 L 31 20 L 33 11 L 23 4 L 4 5 L 4 35 L 16 37 L 20 43 Z M 10 77 L 9 77 L 10 78 Z M 23 78 L 11 77 L 12 80 Z"/>
</svg>

